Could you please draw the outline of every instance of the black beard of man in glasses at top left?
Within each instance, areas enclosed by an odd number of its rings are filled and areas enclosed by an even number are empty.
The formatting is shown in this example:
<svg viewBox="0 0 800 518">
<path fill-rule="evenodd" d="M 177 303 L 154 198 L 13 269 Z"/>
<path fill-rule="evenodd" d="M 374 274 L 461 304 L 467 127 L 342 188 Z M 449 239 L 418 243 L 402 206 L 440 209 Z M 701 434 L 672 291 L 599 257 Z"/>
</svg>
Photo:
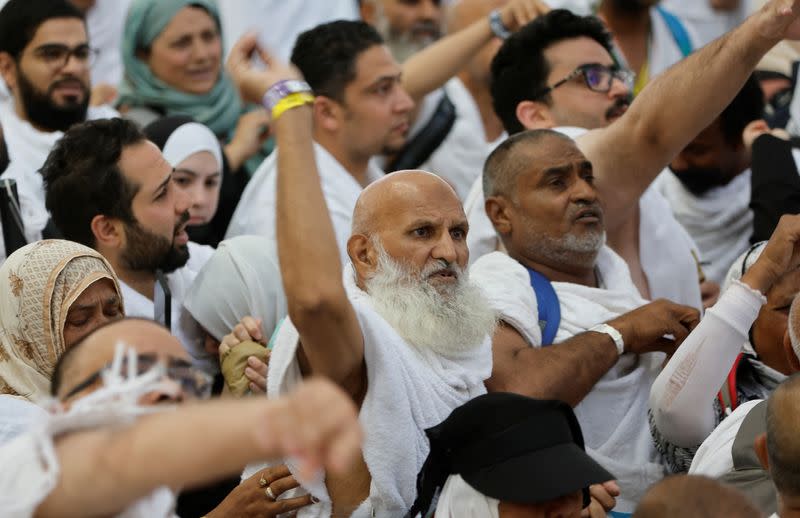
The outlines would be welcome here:
<svg viewBox="0 0 800 518">
<path fill-rule="evenodd" d="M 28 120 L 37 127 L 51 131 L 67 131 L 70 127 L 86 120 L 89 109 L 89 87 L 73 76 L 54 81 L 47 92 L 41 92 L 31 83 L 22 69 L 17 67 L 17 85 L 22 105 Z M 63 106 L 53 101 L 53 91 L 64 83 L 79 84 L 83 90 L 83 99 L 68 98 Z"/>
</svg>

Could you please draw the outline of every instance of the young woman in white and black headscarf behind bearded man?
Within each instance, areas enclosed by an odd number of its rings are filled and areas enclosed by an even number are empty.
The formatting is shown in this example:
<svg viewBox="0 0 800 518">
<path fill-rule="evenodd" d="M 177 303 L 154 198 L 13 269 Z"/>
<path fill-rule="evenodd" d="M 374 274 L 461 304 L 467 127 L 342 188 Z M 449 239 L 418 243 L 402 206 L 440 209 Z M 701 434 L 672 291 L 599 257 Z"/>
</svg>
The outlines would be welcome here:
<svg viewBox="0 0 800 518">
<path fill-rule="evenodd" d="M 216 247 L 225 235 L 236 203 L 244 190 L 245 175 L 223 181 L 222 149 L 207 126 L 185 115 L 152 122 L 144 134 L 175 168 L 175 187 L 189 195 L 189 239 Z"/>
</svg>

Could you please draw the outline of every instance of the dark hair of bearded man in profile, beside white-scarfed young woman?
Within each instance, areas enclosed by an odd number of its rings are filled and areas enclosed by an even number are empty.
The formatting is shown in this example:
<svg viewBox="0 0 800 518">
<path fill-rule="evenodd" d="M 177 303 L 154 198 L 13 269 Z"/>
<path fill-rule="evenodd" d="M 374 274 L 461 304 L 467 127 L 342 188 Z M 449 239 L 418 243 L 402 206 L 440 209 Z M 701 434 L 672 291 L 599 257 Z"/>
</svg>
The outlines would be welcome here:
<svg viewBox="0 0 800 518">
<path fill-rule="evenodd" d="M 136 124 L 113 118 L 76 124 L 56 142 L 40 172 L 45 205 L 65 239 L 94 247 L 98 214 L 136 222 L 131 202 L 140 186 L 125 178 L 119 160 L 123 148 L 145 140 Z"/>
</svg>

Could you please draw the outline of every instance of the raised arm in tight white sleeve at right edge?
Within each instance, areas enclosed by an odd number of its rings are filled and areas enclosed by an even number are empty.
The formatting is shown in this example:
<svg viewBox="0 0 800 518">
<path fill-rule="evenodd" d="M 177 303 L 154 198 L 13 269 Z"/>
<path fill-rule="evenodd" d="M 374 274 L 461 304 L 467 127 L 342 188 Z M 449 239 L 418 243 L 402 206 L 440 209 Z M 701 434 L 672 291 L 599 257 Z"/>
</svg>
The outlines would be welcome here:
<svg viewBox="0 0 800 518">
<path fill-rule="evenodd" d="M 758 260 L 678 348 L 650 389 L 656 427 L 669 442 L 698 446 L 714 430 L 713 400 L 741 352 L 764 295 L 800 265 L 800 216 L 784 216 Z"/>
</svg>

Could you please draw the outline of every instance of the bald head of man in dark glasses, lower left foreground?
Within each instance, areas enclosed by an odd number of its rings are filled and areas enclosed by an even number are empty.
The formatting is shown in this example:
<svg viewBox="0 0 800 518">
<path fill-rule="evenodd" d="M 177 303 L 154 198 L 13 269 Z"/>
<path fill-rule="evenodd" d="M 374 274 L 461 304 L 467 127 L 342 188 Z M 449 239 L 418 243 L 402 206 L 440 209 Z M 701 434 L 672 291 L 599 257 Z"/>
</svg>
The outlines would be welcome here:
<svg viewBox="0 0 800 518">
<path fill-rule="evenodd" d="M 180 342 L 152 320 L 124 318 L 96 329 L 67 349 L 53 372 L 52 393 L 59 399 L 114 359 L 123 343 L 140 354 L 188 359 Z"/>
</svg>

